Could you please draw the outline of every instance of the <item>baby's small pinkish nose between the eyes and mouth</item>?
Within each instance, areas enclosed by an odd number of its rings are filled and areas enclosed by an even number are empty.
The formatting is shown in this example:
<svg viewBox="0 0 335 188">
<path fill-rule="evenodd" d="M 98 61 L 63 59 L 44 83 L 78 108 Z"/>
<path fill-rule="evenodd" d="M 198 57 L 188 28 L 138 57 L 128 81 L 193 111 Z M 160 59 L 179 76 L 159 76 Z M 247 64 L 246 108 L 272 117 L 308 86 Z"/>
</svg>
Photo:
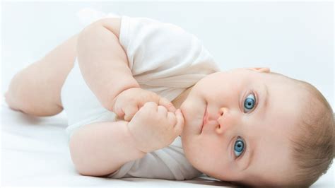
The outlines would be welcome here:
<svg viewBox="0 0 335 188">
<path fill-rule="evenodd" d="M 221 107 L 219 114 L 220 116 L 217 119 L 218 126 L 216 127 L 216 132 L 222 134 L 231 129 L 233 124 L 237 123 L 237 117 L 235 117 L 233 112 L 230 112 L 227 107 Z"/>
</svg>

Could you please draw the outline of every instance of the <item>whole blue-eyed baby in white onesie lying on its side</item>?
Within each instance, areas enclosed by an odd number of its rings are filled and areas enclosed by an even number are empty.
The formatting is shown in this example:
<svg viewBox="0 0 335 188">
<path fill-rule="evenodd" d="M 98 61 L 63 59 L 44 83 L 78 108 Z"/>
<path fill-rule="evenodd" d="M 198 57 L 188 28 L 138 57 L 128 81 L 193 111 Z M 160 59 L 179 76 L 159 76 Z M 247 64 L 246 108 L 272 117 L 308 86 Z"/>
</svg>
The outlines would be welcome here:
<svg viewBox="0 0 335 188">
<path fill-rule="evenodd" d="M 220 71 L 201 41 L 149 18 L 101 18 L 20 71 L 6 102 L 65 110 L 81 175 L 307 187 L 334 157 L 333 111 L 268 68 Z"/>
</svg>

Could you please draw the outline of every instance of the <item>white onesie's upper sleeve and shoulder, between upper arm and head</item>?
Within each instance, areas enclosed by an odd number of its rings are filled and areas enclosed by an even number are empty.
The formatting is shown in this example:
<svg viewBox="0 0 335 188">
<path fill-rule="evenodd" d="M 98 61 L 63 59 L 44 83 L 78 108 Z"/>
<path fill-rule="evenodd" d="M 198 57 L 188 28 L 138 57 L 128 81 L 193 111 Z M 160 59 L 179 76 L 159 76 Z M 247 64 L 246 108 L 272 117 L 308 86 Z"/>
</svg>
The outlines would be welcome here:
<svg viewBox="0 0 335 188">
<path fill-rule="evenodd" d="M 201 40 L 172 23 L 122 16 L 119 42 L 140 84 L 172 81 L 170 86 L 175 86 L 175 81 L 183 80 L 189 83 L 178 87 L 187 88 L 220 70 Z"/>
</svg>

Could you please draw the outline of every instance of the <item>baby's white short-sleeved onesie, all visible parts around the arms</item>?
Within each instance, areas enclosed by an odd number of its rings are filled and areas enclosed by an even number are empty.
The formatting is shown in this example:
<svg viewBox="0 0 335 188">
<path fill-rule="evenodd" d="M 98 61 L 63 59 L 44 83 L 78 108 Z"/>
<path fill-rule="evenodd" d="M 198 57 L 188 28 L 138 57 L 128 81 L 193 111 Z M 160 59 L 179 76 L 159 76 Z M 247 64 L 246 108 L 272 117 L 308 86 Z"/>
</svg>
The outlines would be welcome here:
<svg viewBox="0 0 335 188">
<path fill-rule="evenodd" d="M 121 18 L 119 42 L 141 88 L 172 101 L 204 76 L 220 71 L 201 41 L 182 28 L 150 18 Z M 86 85 L 77 59 L 61 89 L 61 102 L 68 118 L 69 137 L 85 124 L 115 121 L 114 112 L 102 107 Z M 199 175 L 201 172 L 185 158 L 178 136 L 170 146 L 122 165 L 109 177 L 189 180 Z"/>
</svg>

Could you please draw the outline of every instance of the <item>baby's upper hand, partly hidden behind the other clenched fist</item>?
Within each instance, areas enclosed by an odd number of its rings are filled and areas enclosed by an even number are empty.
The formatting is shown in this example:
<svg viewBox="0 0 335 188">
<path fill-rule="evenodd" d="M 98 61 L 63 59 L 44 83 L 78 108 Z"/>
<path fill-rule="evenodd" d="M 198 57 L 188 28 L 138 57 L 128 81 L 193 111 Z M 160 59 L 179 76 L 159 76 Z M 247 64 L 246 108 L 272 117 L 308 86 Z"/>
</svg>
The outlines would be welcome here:
<svg viewBox="0 0 335 188">
<path fill-rule="evenodd" d="M 155 102 L 166 107 L 169 112 L 175 112 L 175 107 L 166 98 L 142 88 L 129 88 L 117 95 L 113 101 L 112 111 L 124 121 L 130 122 L 131 118 L 146 102 Z"/>
</svg>

